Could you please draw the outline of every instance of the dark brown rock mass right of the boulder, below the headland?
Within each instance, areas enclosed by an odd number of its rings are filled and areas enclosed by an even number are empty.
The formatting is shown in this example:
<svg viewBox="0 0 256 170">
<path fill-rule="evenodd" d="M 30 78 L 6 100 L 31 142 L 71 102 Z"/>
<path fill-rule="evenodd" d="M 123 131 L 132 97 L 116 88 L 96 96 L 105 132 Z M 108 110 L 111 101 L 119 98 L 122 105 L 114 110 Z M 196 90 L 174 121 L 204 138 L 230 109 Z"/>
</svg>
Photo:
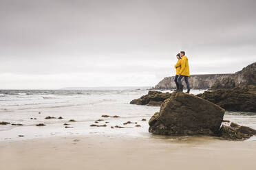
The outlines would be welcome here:
<svg viewBox="0 0 256 170">
<path fill-rule="evenodd" d="M 205 91 L 197 95 L 231 111 L 256 112 L 256 86 Z"/>
</svg>

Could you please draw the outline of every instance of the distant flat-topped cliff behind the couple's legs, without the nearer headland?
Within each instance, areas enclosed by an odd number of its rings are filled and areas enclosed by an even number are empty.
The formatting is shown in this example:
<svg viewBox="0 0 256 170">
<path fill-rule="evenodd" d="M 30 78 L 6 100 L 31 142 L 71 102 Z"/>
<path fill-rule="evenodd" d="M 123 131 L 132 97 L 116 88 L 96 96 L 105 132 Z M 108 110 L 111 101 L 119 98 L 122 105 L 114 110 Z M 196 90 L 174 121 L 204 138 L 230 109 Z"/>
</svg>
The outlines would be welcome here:
<svg viewBox="0 0 256 170">
<path fill-rule="evenodd" d="M 222 80 L 231 74 L 205 74 L 205 75 L 191 75 L 189 77 L 189 85 L 193 89 L 208 89 L 213 86 L 216 80 Z M 175 89 L 176 84 L 174 82 L 175 76 L 164 77 L 155 87 L 152 89 Z M 186 84 L 182 82 L 184 88 Z"/>
</svg>

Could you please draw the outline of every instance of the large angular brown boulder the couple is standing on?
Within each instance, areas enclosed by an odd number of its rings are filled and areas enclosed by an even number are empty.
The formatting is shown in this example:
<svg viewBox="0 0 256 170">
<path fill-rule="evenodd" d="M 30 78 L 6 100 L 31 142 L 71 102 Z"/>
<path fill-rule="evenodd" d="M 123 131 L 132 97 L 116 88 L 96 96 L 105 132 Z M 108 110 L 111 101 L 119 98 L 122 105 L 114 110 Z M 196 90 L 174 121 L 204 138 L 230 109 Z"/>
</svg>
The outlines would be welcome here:
<svg viewBox="0 0 256 170">
<path fill-rule="evenodd" d="M 173 92 L 149 120 L 149 132 L 174 136 L 219 134 L 224 112 L 195 95 Z"/>
</svg>

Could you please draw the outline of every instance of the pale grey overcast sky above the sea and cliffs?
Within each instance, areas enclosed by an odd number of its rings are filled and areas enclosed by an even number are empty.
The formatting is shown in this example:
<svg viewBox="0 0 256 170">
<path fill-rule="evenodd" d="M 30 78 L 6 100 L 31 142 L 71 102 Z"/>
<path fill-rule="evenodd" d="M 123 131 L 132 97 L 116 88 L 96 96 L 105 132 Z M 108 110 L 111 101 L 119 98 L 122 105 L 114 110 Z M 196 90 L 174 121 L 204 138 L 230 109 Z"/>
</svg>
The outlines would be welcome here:
<svg viewBox="0 0 256 170">
<path fill-rule="evenodd" d="M 256 1 L 0 0 L 0 88 L 155 86 L 256 61 Z"/>
</svg>

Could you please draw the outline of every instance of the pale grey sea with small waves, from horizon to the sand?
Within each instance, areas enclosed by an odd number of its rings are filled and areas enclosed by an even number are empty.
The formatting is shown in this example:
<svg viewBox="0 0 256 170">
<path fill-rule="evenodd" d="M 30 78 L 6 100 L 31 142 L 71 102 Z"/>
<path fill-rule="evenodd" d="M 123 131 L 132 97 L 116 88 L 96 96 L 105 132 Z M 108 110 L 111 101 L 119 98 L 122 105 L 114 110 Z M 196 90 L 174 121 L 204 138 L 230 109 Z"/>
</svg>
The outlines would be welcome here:
<svg viewBox="0 0 256 170">
<path fill-rule="evenodd" d="M 0 125 L 0 141 L 16 141 L 49 136 L 110 134 L 148 138 L 148 120 L 159 106 L 129 104 L 148 93 L 148 88 L 111 88 L 87 90 L 0 90 L 0 121 L 23 125 Z M 163 93 L 170 92 L 162 90 Z M 204 90 L 191 90 L 203 93 Z M 115 116 L 101 117 L 102 115 Z M 63 119 L 45 119 L 63 117 Z M 76 122 L 70 122 L 74 119 Z M 94 121 L 103 119 L 103 121 Z M 142 121 L 147 119 L 147 121 Z M 256 113 L 226 112 L 224 119 L 256 129 Z M 123 123 L 131 121 L 129 125 Z M 45 126 L 36 126 L 43 123 Z M 68 123 L 70 125 L 63 125 Z M 91 127 L 90 125 L 107 125 Z M 111 128 L 114 126 L 127 128 Z M 140 125 L 140 127 L 136 127 Z M 20 137 L 23 136 L 23 137 Z M 255 138 L 250 138 L 255 140 Z"/>
</svg>

